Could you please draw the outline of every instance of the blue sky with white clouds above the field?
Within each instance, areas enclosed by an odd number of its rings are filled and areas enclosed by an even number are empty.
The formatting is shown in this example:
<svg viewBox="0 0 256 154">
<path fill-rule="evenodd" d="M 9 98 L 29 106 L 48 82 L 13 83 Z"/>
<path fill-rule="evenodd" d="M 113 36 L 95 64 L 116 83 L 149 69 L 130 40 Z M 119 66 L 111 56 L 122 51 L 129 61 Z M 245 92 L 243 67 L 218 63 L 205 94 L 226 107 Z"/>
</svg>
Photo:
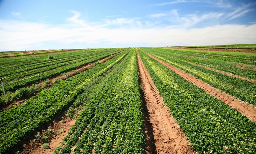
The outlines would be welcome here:
<svg viewBox="0 0 256 154">
<path fill-rule="evenodd" d="M 0 51 L 249 43 L 255 0 L 0 0 Z"/>
</svg>

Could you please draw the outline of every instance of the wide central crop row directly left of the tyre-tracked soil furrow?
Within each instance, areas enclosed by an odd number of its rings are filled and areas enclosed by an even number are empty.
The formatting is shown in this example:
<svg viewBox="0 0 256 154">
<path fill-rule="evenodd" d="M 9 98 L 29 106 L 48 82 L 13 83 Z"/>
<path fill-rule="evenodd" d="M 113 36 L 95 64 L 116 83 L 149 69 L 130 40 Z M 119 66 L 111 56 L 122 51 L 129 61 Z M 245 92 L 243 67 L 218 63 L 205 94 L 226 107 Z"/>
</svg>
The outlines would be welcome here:
<svg viewBox="0 0 256 154">
<path fill-rule="evenodd" d="M 141 153 L 143 117 L 135 51 L 106 76 L 55 153 Z M 79 139 L 80 138 L 80 139 Z"/>
</svg>

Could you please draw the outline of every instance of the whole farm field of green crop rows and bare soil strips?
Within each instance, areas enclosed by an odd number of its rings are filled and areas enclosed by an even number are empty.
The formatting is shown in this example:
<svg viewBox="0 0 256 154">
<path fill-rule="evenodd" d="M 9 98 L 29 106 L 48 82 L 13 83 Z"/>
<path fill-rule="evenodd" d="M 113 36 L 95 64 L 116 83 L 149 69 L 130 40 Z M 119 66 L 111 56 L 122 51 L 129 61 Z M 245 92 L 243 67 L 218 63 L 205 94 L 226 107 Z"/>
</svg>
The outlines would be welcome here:
<svg viewBox="0 0 256 154">
<path fill-rule="evenodd" d="M 255 53 L 53 51 L 0 54 L 0 153 L 256 151 Z"/>
</svg>

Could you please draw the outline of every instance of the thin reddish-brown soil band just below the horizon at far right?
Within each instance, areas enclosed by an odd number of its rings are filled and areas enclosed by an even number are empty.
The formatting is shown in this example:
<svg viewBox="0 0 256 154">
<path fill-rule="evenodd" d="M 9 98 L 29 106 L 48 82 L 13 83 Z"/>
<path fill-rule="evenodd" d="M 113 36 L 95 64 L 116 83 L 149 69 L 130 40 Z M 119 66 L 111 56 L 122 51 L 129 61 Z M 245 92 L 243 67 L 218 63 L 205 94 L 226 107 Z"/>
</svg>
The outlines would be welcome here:
<svg viewBox="0 0 256 154">
<path fill-rule="evenodd" d="M 256 53 L 252 50 L 241 50 L 241 49 L 208 49 L 208 48 L 184 48 L 184 47 L 160 47 L 160 48 L 174 48 L 174 49 L 186 49 L 186 50 L 200 50 L 200 51 L 223 51 L 223 52 L 245 52 L 245 53 Z"/>
</svg>

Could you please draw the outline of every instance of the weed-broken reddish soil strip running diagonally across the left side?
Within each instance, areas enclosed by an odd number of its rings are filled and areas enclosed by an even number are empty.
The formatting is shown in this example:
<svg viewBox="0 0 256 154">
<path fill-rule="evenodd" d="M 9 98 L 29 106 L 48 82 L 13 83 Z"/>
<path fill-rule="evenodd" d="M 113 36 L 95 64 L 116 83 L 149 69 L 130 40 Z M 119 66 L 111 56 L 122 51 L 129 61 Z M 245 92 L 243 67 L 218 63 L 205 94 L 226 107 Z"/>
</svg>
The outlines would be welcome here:
<svg viewBox="0 0 256 154">
<path fill-rule="evenodd" d="M 112 56 L 108 56 L 108 57 L 105 57 L 105 58 L 102 58 L 99 60 L 99 63 L 104 63 L 106 61 L 108 61 L 109 59 L 112 59 L 113 57 L 115 57 L 116 55 L 120 54 L 121 52 L 119 53 L 116 53 L 116 54 L 113 54 Z M 94 66 L 96 66 L 97 63 L 92 63 L 92 64 L 89 64 L 89 65 L 85 65 L 85 66 L 79 66 L 77 69 L 74 69 L 72 72 L 70 72 L 69 74 L 64 74 L 64 75 L 55 75 L 53 77 L 50 77 L 49 79 L 49 84 L 47 84 L 47 87 L 52 87 L 54 84 L 55 84 L 55 80 L 56 79 L 61 79 L 61 80 L 66 80 L 72 76 L 75 76 L 76 74 L 79 74 L 81 72 L 84 72 L 86 70 L 88 70 L 89 68 L 92 68 Z M 38 85 L 40 85 L 41 87 L 43 87 L 43 82 L 40 82 L 38 83 Z M 31 96 L 33 97 L 33 96 Z M 26 99 L 23 99 L 23 100 L 16 100 L 16 101 L 13 101 L 11 104 L 5 104 L 4 106 L 0 106 L 0 112 L 2 112 L 3 110 L 7 110 L 7 109 L 10 109 L 12 108 L 14 105 L 19 105 L 19 104 L 22 104 L 22 103 L 25 103 L 25 101 L 27 101 L 29 98 L 26 98 Z"/>
</svg>

